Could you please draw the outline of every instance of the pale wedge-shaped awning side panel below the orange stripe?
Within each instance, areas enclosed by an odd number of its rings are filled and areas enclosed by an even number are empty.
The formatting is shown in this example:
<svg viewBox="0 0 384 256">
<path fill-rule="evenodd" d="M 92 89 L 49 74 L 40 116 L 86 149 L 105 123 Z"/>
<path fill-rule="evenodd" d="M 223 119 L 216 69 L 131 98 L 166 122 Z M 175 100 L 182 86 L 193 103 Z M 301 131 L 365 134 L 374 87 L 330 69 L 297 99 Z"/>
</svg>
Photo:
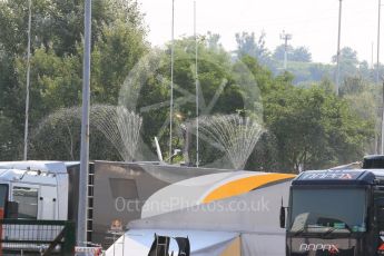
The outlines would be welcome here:
<svg viewBox="0 0 384 256">
<path fill-rule="evenodd" d="M 200 204 L 129 223 L 129 228 L 191 229 L 282 234 L 279 209 L 288 203 L 289 183 L 280 183 L 247 194 Z"/>
</svg>

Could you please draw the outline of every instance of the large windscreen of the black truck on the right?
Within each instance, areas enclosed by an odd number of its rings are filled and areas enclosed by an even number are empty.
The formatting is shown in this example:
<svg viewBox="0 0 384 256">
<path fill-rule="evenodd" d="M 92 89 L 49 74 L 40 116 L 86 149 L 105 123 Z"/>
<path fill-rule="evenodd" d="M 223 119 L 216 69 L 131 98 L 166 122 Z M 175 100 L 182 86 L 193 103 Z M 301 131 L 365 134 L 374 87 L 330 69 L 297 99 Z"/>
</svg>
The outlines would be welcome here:
<svg viewBox="0 0 384 256">
<path fill-rule="evenodd" d="M 366 208 L 365 189 L 293 189 L 291 232 L 365 232 Z"/>
</svg>

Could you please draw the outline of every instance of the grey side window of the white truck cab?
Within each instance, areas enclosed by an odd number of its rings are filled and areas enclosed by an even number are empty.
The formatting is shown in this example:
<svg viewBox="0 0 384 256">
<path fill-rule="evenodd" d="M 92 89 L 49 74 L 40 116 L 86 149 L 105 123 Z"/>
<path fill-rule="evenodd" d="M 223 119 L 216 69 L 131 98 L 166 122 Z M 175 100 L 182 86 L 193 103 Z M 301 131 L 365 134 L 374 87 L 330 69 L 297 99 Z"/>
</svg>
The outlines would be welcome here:
<svg viewBox="0 0 384 256">
<path fill-rule="evenodd" d="M 13 200 L 19 203 L 19 218 L 37 219 L 38 189 L 30 187 L 13 187 Z"/>
</svg>

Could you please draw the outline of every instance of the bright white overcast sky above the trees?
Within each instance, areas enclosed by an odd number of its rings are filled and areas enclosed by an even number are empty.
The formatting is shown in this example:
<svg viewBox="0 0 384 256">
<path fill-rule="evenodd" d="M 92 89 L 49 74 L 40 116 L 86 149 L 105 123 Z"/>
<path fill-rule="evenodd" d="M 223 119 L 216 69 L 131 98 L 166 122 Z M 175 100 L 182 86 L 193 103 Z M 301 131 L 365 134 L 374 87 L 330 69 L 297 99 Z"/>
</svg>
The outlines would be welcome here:
<svg viewBox="0 0 384 256">
<path fill-rule="evenodd" d="M 164 46 L 171 38 L 171 1 L 138 0 L 152 46 Z M 361 61 L 376 62 L 378 0 L 343 0 L 342 4 L 341 48 L 353 48 Z M 257 38 L 264 31 L 267 48 L 274 50 L 283 43 L 279 36 L 285 30 L 292 35 L 289 45 L 307 47 L 313 61 L 328 63 L 337 51 L 339 0 L 196 0 L 196 6 L 197 33 L 219 33 L 226 50 L 236 49 L 235 33 L 242 31 L 255 32 Z M 384 19 L 384 10 L 382 14 Z M 175 0 L 175 38 L 191 35 L 194 0 Z M 384 42 L 384 31 L 382 36 Z"/>
</svg>

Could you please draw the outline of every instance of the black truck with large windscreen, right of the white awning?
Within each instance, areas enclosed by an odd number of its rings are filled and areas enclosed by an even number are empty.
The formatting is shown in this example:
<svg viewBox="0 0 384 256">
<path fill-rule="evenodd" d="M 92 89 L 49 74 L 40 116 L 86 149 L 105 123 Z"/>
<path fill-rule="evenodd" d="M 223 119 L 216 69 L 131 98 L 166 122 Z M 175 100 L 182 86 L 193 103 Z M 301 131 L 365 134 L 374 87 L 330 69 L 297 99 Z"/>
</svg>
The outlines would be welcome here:
<svg viewBox="0 0 384 256">
<path fill-rule="evenodd" d="M 301 173 L 279 223 L 287 256 L 384 255 L 384 156 L 357 169 Z"/>
</svg>

